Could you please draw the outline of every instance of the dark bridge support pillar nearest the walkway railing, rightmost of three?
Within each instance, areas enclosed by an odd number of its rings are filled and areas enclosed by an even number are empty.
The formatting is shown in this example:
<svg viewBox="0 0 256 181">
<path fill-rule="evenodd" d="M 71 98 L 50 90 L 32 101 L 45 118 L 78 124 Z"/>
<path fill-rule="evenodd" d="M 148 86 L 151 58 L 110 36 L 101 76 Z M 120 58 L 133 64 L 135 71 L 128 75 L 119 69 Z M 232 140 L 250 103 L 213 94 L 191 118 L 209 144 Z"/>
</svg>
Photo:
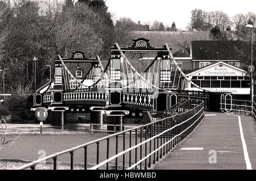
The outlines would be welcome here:
<svg viewBox="0 0 256 181">
<path fill-rule="evenodd" d="M 114 131 L 114 132 L 122 131 L 123 127 L 121 127 L 120 125 L 123 124 L 124 115 L 107 115 L 107 116 L 108 116 L 108 124 L 112 124 L 107 127 L 107 130 Z M 114 126 L 115 124 L 119 126 Z M 113 133 L 113 132 L 108 132 L 108 133 Z"/>
</svg>

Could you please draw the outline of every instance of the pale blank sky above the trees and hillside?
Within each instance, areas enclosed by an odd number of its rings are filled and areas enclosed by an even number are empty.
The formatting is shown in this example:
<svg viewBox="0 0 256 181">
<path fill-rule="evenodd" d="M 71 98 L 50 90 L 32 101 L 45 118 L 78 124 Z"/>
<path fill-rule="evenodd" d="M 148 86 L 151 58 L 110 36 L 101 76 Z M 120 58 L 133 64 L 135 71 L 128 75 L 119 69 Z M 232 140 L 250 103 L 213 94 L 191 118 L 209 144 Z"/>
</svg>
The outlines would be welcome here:
<svg viewBox="0 0 256 181">
<path fill-rule="evenodd" d="M 181 30 L 190 22 L 193 9 L 223 11 L 230 17 L 238 13 L 256 13 L 255 0 L 106 0 L 106 5 L 114 20 L 127 17 L 147 24 L 158 20 L 165 26 L 175 22 Z"/>
</svg>

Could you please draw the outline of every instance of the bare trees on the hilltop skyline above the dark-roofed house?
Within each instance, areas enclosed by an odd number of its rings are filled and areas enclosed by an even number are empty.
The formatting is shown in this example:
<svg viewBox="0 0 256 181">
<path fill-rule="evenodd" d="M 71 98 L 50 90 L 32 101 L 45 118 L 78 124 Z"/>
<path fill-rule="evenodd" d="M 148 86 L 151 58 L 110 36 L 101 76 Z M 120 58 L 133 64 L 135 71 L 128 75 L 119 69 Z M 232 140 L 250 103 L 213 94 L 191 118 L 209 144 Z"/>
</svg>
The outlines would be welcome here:
<svg viewBox="0 0 256 181">
<path fill-rule="evenodd" d="M 254 24 L 256 14 L 247 12 L 246 14 L 237 14 L 232 18 L 222 11 L 203 11 L 194 9 L 191 11 L 191 22 L 187 30 L 195 29 L 197 31 L 210 31 L 213 38 L 217 40 L 226 40 L 226 32 L 232 32 L 238 39 L 247 39 L 250 30 L 246 24 Z M 232 30 L 233 28 L 233 30 Z"/>
</svg>

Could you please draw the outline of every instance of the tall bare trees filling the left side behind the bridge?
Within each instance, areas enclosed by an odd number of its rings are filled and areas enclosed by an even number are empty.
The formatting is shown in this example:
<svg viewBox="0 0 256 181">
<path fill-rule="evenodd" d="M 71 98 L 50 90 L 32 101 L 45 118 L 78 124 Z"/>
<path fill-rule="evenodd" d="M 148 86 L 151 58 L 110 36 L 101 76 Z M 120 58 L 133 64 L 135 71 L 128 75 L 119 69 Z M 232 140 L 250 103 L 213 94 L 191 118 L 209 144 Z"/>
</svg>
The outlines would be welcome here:
<svg viewBox="0 0 256 181">
<path fill-rule="evenodd" d="M 103 0 L 0 1 L 0 91 L 5 76 L 5 92 L 12 93 L 0 115 L 6 110 L 13 120 L 31 120 L 32 93 L 49 81 L 46 65 L 54 67 L 57 54 L 70 57 L 81 50 L 108 60 L 114 42 L 131 41 L 124 28 L 114 24 Z"/>
</svg>

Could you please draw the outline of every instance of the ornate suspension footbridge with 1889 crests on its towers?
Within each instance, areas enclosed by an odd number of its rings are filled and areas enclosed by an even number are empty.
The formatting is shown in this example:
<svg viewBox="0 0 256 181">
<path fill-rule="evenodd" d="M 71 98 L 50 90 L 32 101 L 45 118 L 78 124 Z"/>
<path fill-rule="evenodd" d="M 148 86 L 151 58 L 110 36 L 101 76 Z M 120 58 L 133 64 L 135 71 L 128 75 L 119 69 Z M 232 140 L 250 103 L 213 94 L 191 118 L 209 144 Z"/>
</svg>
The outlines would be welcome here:
<svg viewBox="0 0 256 181">
<path fill-rule="evenodd" d="M 110 53 L 105 68 L 99 56 L 85 58 L 83 52 L 74 52 L 71 58 L 58 55 L 55 75 L 36 91 L 31 110 L 46 107 L 52 124 L 64 125 L 65 113 L 90 112 L 95 124 L 102 124 L 105 114 L 110 124 L 121 124 L 122 119 L 143 118 L 144 112 L 164 111 L 183 99 L 204 100 L 205 109 L 210 109 L 213 93 L 188 79 L 168 44 L 154 48 L 149 40 L 140 38 L 130 47 L 115 43 Z M 155 54 L 155 58 L 139 73 L 127 58 L 131 54 Z M 188 82 L 200 91 L 187 91 Z"/>
</svg>

